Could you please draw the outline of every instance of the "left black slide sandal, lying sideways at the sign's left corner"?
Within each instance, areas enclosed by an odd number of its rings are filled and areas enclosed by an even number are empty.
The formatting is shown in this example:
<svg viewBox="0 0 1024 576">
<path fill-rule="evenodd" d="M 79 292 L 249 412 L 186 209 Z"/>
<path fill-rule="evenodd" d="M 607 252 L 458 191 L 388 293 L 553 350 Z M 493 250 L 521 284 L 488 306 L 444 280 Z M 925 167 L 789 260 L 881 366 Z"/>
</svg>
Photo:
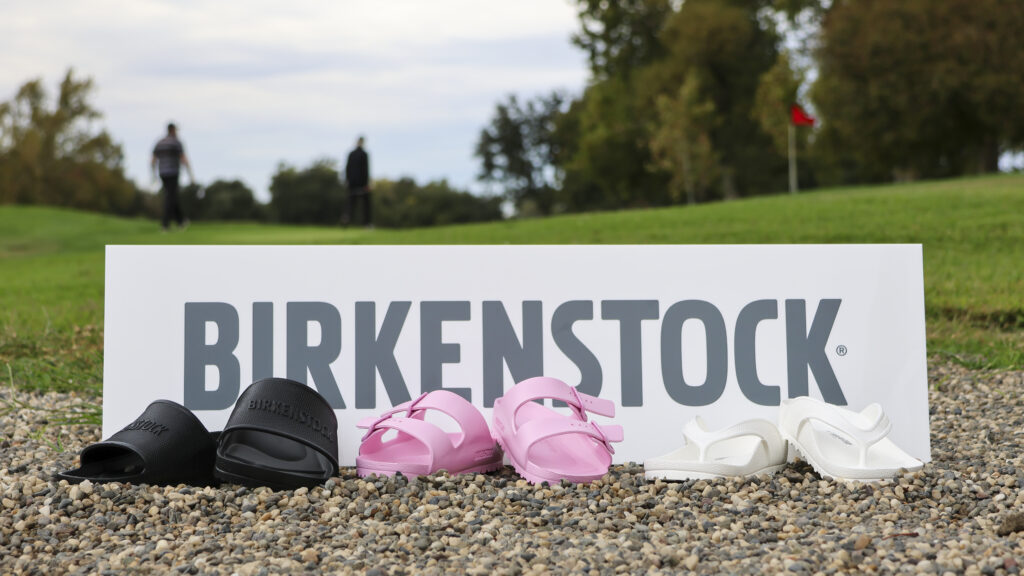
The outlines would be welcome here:
<svg viewBox="0 0 1024 576">
<path fill-rule="evenodd" d="M 55 475 L 78 484 L 190 484 L 216 486 L 213 461 L 216 435 L 207 431 L 187 408 L 158 400 L 121 431 L 82 450 L 81 466 Z"/>
</svg>

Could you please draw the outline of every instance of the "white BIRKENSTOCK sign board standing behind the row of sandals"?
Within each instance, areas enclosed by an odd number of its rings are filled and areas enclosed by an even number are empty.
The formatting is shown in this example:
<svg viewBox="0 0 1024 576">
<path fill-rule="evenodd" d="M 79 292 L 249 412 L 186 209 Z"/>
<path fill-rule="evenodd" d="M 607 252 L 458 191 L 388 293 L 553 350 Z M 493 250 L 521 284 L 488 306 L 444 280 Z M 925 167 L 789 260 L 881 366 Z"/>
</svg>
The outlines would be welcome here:
<svg viewBox="0 0 1024 576">
<path fill-rule="evenodd" d="M 920 245 L 109 246 L 104 331 L 104 438 L 157 399 L 221 429 L 280 376 L 354 465 L 366 416 L 443 387 L 489 422 L 546 375 L 615 403 L 616 462 L 805 395 L 878 402 L 931 457 Z"/>
</svg>

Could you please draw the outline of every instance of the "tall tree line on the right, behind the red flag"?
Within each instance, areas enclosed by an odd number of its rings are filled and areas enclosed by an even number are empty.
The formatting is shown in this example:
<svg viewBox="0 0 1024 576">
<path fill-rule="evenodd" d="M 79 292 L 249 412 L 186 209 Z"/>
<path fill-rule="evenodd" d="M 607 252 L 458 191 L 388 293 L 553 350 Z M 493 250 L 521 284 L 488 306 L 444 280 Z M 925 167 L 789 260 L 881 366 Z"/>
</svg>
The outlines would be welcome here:
<svg viewBox="0 0 1024 576">
<path fill-rule="evenodd" d="M 509 95 L 480 177 L 520 212 L 992 172 L 1024 149 L 1020 0 L 575 0 L 582 94 Z"/>
</svg>

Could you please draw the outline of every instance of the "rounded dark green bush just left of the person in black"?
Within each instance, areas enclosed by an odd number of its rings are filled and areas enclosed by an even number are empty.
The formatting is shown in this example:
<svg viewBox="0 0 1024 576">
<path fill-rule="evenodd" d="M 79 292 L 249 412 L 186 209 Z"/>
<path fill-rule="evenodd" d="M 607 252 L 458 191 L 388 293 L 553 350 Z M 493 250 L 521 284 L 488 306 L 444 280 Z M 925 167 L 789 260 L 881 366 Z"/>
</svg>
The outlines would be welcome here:
<svg viewBox="0 0 1024 576">
<path fill-rule="evenodd" d="M 288 223 L 337 224 L 345 209 L 345 190 L 337 162 L 321 159 L 299 170 L 285 163 L 270 179 L 270 213 Z"/>
</svg>

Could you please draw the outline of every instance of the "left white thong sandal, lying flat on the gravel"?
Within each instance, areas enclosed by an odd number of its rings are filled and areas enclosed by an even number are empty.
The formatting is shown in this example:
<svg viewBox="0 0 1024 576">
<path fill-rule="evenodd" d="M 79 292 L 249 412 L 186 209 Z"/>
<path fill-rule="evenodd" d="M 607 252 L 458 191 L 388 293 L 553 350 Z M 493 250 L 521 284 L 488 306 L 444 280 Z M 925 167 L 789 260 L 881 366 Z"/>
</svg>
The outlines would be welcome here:
<svg viewBox="0 0 1024 576">
<path fill-rule="evenodd" d="M 712 431 L 697 416 L 683 428 L 683 436 L 684 446 L 644 462 L 644 476 L 648 480 L 757 476 L 777 471 L 785 465 L 785 441 L 768 420 L 745 420 Z"/>
</svg>

